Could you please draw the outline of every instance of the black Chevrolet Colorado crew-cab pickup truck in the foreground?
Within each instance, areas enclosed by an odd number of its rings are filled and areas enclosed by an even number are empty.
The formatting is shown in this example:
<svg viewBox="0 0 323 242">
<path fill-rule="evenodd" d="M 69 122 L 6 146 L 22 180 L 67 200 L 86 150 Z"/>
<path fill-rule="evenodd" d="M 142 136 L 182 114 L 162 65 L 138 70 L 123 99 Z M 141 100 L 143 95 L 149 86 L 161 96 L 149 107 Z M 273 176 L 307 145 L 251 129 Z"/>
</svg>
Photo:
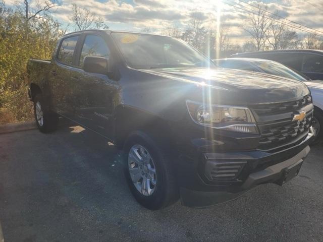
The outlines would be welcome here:
<svg viewBox="0 0 323 242">
<path fill-rule="evenodd" d="M 302 82 L 217 69 L 172 37 L 111 30 L 64 35 L 27 65 L 43 133 L 59 115 L 123 150 L 130 191 L 156 210 L 207 207 L 295 177 L 313 137 Z"/>
</svg>

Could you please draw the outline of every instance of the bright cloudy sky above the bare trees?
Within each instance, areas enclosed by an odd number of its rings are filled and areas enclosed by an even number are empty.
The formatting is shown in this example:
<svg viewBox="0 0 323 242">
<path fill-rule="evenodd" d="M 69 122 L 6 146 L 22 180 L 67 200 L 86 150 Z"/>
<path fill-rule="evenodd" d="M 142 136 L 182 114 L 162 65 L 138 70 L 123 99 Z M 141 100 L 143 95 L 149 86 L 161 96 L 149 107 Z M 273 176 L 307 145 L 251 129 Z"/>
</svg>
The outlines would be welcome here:
<svg viewBox="0 0 323 242">
<path fill-rule="evenodd" d="M 17 0 L 5 0 L 13 4 Z M 21 0 L 20 0 L 21 1 Z M 30 4 L 35 1 L 29 0 Z M 111 29 L 140 31 L 150 28 L 155 33 L 161 33 L 167 27 L 176 25 L 185 30 L 188 28 L 190 16 L 198 16 L 203 21 L 203 26 L 216 29 L 220 16 L 221 24 L 229 24 L 230 37 L 243 39 L 248 34 L 245 27 L 248 13 L 229 4 L 241 8 L 251 8 L 250 5 L 260 4 L 267 6 L 268 11 L 311 27 L 323 36 L 323 0 L 57 0 L 59 7 L 51 15 L 64 26 L 72 24 L 72 4 L 90 9 L 96 16 L 104 18 Z M 246 5 L 244 2 L 250 4 Z M 300 26 L 300 25 L 299 25 Z M 304 28 L 304 27 L 302 27 Z M 68 31 L 73 31 L 70 25 Z M 297 31 L 304 34 L 302 31 Z"/>
</svg>

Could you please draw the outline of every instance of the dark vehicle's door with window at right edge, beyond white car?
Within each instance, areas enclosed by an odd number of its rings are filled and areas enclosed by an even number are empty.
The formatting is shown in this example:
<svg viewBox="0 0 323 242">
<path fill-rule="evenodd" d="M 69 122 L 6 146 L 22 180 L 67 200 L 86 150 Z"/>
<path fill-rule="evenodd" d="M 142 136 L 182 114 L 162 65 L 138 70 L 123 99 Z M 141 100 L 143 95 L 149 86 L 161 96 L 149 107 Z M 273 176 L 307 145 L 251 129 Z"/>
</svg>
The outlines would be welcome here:
<svg viewBox="0 0 323 242">
<path fill-rule="evenodd" d="M 323 55 L 304 54 L 301 72 L 312 80 L 323 80 Z"/>
</svg>

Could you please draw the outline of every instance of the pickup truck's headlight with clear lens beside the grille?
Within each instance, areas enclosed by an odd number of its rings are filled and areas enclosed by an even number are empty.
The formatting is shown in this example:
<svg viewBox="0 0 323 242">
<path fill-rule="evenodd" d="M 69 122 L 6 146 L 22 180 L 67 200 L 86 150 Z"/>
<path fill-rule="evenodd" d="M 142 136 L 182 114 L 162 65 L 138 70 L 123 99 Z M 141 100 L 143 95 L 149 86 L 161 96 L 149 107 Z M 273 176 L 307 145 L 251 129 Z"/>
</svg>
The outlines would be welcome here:
<svg viewBox="0 0 323 242">
<path fill-rule="evenodd" d="M 255 119 L 247 107 L 205 105 L 186 101 L 188 112 L 196 124 L 214 129 L 225 129 L 257 134 Z"/>
</svg>

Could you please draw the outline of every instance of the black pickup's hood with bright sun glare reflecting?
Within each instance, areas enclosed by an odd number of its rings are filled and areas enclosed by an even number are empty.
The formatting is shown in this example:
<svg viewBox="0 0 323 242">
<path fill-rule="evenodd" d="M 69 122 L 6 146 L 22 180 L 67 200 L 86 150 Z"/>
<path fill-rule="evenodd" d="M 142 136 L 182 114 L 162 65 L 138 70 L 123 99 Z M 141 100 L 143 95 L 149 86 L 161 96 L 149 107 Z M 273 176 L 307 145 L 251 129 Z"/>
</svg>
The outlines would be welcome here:
<svg viewBox="0 0 323 242">
<path fill-rule="evenodd" d="M 232 69 L 165 68 L 145 70 L 153 75 L 210 88 L 217 103 L 274 103 L 297 100 L 309 90 L 303 82 Z M 196 92 L 196 90 L 194 91 Z"/>
</svg>

